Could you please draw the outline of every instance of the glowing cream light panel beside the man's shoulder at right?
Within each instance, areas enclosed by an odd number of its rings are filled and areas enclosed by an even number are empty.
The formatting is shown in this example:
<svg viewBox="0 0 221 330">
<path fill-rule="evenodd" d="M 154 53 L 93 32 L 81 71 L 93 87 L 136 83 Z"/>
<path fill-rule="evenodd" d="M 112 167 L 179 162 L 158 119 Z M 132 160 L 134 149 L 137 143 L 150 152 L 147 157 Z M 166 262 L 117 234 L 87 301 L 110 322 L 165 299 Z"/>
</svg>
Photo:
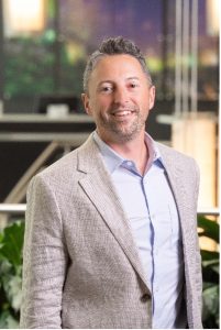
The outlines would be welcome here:
<svg viewBox="0 0 221 330">
<path fill-rule="evenodd" d="M 173 147 L 194 157 L 200 168 L 200 207 L 216 207 L 217 138 L 216 120 L 207 113 L 180 118 L 173 122 Z"/>
</svg>

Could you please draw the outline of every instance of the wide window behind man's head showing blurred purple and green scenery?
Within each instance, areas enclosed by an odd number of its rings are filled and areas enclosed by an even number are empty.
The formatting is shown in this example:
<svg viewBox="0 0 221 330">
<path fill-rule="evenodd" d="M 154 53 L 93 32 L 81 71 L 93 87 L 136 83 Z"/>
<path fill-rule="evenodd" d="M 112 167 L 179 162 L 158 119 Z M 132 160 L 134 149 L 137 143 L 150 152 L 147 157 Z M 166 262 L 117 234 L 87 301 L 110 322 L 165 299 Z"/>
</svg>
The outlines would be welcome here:
<svg viewBox="0 0 221 330">
<path fill-rule="evenodd" d="M 33 19 L 26 26 L 14 24 L 14 31 L 9 28 L 7 2 L 10 1 L 3 1 L 2 8 L 4 34 L 0 38 L 0 96 L 5 112 L 34 112 L 43 95 L 79 97 L 88 54 L 112 35 L 123 35 L 139 44 L 157 87 L 157 99 L 174 100 L 174 0 L 42 0 L 38 26 L 31 26 Z M 29 8 L 23 8 L 22 13 Z M 12 9 L 19 14 L 16 8 Z M 219 38 L 208 34 L 207 11 L 206 0 L 199 0 L 198 92 L 199 100 L 217 102 Z"/>
</svg>

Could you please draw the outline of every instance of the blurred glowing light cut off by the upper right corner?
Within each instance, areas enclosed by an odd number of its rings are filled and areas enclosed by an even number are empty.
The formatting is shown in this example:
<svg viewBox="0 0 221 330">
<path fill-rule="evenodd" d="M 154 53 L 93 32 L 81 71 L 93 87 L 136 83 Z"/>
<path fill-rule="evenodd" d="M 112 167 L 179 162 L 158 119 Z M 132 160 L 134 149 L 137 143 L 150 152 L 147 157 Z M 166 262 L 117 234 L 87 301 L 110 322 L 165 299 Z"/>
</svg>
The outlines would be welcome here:
<svg viewBox="0 0 221 330">
<path fill-rule="evenodd" d="M 220 0 L 207 0 L 207 32 L 209 35 L 219 35 L 220 9 Z"/>
</svg>

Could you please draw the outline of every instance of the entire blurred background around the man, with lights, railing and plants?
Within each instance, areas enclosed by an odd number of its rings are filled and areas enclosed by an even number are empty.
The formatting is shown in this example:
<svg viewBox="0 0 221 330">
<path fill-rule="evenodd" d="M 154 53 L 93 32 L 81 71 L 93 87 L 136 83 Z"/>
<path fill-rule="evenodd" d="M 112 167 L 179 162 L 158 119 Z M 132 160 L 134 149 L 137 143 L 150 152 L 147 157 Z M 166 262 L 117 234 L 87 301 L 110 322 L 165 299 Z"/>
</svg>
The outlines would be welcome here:
<svg viewBox="0 0 221 330">
<path fill-rule="evenodd" d="M 27 184 L 95 129 L 82 73 L 117 35 L 156 86 L 147 131 L 199 164 L 203 322 L 219 328 L 219 0 L 0 0 L 0 328 L 19 320 Z"/>
</svg>

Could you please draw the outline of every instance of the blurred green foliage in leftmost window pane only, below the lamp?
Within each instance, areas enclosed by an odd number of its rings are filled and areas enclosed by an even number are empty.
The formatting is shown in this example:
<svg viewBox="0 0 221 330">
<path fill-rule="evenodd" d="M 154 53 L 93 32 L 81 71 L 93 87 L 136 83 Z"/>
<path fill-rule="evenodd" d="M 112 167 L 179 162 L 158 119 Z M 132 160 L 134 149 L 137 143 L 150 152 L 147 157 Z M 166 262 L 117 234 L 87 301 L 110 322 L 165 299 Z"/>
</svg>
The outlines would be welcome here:
<svg viewBox="0 0 221 330">
<path fill-rule="evenodd" d="M 53 92 L 53 45 L 46 37 L 14 37 L 5 42 L 5 86 L 8 98 Z"/>
</svg>

